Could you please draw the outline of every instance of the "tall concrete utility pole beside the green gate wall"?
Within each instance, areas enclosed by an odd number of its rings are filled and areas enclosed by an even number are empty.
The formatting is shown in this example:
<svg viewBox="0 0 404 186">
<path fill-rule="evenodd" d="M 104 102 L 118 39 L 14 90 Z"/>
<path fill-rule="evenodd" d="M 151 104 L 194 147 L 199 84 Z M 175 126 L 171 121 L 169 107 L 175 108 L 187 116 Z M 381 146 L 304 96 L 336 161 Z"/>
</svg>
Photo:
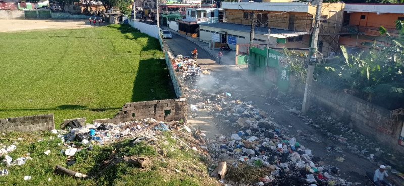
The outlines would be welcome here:
<svg viewBox="0 0 404 186">
<path fill-rule="evenodd" d="M 312 33 L 312 44 L 310 46 L 309 55 L 307 57 L 308 67 L 307 67 L 307 77 L 306 77 L 306 84 L 305 84 L 305 94 L 303 96 L 303 105 L 301 107 L 302 113 L 306 113 L 307 110 L 309 110 L 308 92 L 313 83 L 314 65 L 316 65 L 316 60 L 317 60 L 317 41 L 319 39 L 319 25 L 320 25 L 322 4 L 323 4 L 323 0 L 317 1 L 316 16 L 314 19 L 314 27 L 313 27 L 313 33 Z"/>
</svg>

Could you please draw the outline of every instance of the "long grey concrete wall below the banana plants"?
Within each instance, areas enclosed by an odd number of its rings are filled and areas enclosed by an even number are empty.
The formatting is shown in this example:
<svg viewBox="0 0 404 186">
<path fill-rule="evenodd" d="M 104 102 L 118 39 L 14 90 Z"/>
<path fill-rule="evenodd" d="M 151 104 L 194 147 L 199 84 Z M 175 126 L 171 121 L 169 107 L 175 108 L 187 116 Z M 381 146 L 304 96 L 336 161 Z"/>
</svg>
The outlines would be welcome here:
<svg viewBox="0 0 404 186">
<path fill-rule="evenodd" d="M 303 98 L 304 85 L 295 84 L 293 78 L 290 80 L 293 93 Z M 316 83 L 313 83 L 309 92 L 309 102 L 325 108 L 333 117 L 348 122 L 356 131 L 404 153 L 404 147 L 398 144 L 403 123 L 392 116 L 390 110 Z"/>
</svg>

